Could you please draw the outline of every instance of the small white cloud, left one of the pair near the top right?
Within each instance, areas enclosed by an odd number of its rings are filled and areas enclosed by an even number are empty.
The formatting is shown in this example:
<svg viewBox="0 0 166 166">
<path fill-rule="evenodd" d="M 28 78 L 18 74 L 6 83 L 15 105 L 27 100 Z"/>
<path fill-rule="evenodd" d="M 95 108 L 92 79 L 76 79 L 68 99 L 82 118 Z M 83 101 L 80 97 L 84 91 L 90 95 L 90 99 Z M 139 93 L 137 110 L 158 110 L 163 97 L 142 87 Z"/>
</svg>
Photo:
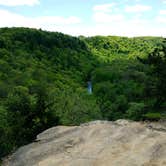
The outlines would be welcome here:
<svg viewBox="0 0 166 166">
<path fill-rule="evenodd" d="M 111 12 L 114 5 L 115 3 L 96 5 L 93 7 L 93 10 L 96 12 Z"/>
</svg>

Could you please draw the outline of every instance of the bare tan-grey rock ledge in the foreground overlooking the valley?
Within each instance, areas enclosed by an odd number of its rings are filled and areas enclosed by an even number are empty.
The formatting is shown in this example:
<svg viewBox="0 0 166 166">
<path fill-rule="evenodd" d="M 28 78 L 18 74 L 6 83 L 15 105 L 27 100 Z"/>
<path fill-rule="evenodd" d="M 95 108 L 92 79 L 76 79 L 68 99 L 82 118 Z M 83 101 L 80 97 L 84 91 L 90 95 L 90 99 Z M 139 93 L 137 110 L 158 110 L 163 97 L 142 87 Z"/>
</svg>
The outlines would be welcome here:
<svg viewBox="0 0 166 166">
<path fill-rule="evenodd" d="M 3 165 L 166 166 L 166 124 L 118 120 L 53 127 Z"/>
</svg>

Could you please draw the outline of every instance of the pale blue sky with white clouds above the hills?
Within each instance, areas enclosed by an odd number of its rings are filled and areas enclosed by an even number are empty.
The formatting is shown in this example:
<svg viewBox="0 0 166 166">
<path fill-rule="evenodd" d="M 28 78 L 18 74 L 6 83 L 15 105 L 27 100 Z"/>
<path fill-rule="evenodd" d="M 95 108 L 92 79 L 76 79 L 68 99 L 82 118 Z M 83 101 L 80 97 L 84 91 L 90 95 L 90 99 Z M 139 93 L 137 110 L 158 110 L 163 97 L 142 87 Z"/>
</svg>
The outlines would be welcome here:
<svg viewBox="0 0 166 166">
<path fill-rule="evenodd" d="M 0 0 L 0 27 L 166 37 L 166 0 Z"/>
</svg>

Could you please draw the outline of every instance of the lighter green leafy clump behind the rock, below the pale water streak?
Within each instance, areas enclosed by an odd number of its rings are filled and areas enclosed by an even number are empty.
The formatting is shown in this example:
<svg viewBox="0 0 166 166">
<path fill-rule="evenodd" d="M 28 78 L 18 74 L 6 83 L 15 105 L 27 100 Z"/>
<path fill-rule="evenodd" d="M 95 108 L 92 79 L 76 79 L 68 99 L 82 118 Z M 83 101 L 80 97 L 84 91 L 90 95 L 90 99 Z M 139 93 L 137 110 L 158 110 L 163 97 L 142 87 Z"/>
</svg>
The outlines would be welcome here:
<svg viewBox="0 0 166 166">
<path fill-rule="evenodd" d="M 62 125 L 79 125 L 101 119 L 95 98 L 86 92 L 59 91 L 52 106 Z"/>
</svg>

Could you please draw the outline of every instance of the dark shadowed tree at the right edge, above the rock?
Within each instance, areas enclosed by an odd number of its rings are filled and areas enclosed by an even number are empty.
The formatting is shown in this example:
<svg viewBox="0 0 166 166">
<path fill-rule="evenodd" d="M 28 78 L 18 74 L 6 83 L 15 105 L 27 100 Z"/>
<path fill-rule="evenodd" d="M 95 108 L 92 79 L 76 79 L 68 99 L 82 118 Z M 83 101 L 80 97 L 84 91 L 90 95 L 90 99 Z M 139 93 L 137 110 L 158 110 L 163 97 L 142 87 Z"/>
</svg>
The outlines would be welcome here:
<svg viewBox="0 0 166 166">
<path fill-rule="evenodd" d="M 153 98 L 155 110 L 164 111 L 166 107 L 166 39 L 142 62 L 147 63 L 151 68 L 151 76 L 146 84 L 146 97 Z"/>
</svg>

